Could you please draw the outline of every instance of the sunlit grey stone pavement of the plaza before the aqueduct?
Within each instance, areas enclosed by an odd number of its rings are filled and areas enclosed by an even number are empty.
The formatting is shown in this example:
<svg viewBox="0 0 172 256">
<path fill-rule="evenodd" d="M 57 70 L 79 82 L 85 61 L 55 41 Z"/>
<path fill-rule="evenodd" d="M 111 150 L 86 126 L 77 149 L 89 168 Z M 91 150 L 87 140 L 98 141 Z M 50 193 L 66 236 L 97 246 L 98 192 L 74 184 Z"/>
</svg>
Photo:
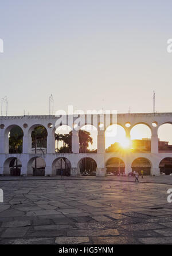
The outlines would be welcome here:
<svg viewBox="0 0 172 256">
<path fill-rule="evenodd" d="M 171 244 L 172 177 L 141 181 L 0 177 L 0 244 Z"/>
</svg>

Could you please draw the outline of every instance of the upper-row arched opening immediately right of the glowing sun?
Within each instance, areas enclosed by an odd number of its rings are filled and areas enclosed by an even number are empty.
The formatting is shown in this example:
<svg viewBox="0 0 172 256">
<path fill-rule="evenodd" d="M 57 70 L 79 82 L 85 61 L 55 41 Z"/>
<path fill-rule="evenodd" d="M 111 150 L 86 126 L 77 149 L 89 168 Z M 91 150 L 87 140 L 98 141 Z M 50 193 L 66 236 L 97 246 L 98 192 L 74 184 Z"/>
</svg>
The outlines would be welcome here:
<svg viewBox="0 0 172 256">
<path fill-rule="evenodd" d="M 131 150 L 132 152 L 150 152 L 151 151 L 151 129 L 147 125 L 139 123 L 132 127 Z"/>
</svg>

